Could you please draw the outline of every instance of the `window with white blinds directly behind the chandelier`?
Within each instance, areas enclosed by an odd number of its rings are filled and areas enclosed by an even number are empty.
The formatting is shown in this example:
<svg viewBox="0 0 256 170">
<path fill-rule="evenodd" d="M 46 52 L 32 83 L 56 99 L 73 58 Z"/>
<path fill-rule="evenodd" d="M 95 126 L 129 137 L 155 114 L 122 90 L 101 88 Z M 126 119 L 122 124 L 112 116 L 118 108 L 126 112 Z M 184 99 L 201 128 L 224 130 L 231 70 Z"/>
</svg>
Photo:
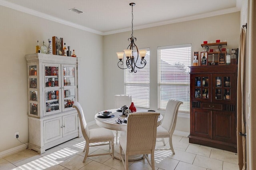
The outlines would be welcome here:
<svg viewBox="0 0 256 170">
<path fill-rule="evenodd" d="M 124 91 L 126 95 L 132 95 L 132 102 L 136 107 L 150 108 L 149 87 L 150 87 L 150 49 L 146 48 L 146 66 L 143 69 L 136 68 L 136 73 L 130 73 L 130 69 L 124 71 Z M 137 55 L 137 51 L 133 53 Z M 137 61 L 140 65 L 140 56 Z M 129 107 L 129 106 L 128 106 Z"/>
</svg>

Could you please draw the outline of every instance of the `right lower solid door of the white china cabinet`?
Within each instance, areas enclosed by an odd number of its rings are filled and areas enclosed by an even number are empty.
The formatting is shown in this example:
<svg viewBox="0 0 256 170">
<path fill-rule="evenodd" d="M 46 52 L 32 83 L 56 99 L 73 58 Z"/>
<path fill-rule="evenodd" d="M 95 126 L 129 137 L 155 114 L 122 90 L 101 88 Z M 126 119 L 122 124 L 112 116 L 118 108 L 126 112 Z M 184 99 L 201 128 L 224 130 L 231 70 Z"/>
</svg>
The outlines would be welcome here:
<svg viewBox="0 0 256 170">
<path fill-rule="evenodd" d="M 63 116 L 63 137 L 78 132 L 77 113 Z"/>
</svg>

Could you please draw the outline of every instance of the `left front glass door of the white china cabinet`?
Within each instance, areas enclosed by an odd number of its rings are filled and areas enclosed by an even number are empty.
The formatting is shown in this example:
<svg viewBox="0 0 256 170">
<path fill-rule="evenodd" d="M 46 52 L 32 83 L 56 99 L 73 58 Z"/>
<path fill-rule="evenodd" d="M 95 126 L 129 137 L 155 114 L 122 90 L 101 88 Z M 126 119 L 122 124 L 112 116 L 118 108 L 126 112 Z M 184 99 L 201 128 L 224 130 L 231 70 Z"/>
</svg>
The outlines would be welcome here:
<svg viewBox="0 0 256 170">
<path fill-rule="evenodd" d="M 61 111 L 60 107 L 60 85 L 58 64 L 44 65 L 44 87 L 45 87 L 45 114 L 52 115 Z"/>
</svg>

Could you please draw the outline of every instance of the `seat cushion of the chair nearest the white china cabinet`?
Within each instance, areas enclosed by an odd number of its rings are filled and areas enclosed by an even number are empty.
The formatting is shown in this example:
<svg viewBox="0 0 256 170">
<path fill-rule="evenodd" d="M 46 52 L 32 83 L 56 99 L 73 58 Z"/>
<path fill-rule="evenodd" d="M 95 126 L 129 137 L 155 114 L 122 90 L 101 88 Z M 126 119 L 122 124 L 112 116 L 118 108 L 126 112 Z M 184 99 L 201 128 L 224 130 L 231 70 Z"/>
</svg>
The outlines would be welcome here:
<svg viewBox="0 0 256 170">
<path fill-rule="evenodd" d="M 106 139 L 113 139 L 114 140 L 114 134 L 111 130 L 108 130 L 106 128 L 94 128 L 94 129 L 90 129 L 89 130 L 89 134 L 90 134 L 90 137 L 89 137 L 89 140 L 90 140 L 90 143 L 91 141 L 93 140 L 105 140 Z"/>
</svg>

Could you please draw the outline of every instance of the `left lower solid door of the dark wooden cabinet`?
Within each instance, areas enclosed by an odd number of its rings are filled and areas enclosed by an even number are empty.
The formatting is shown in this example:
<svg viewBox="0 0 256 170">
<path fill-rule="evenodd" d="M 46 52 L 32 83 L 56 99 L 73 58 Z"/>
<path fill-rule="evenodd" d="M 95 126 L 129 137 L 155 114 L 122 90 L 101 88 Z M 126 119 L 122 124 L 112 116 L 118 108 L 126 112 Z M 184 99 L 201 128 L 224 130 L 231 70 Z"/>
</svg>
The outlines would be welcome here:
<svg viewBox="0 0 256 170">
<path fill-rule="evenodd" d="M 212 115 L 208 109 L 192 109 L 190 132 L 194 136 L 212 138 Z"/>
</svg>

